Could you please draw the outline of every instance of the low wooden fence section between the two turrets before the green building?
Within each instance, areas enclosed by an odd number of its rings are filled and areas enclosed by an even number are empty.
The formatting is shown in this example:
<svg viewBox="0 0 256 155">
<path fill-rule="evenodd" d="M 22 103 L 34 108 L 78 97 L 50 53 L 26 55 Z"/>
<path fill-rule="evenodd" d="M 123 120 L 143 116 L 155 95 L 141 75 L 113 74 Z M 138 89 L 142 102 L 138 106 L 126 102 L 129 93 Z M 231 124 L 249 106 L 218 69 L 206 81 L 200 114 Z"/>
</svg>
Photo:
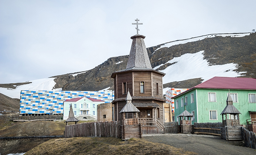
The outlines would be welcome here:
<svg viewBox="0 0 256 155">
<path fill-rule="evenodd" d="M 220 136 L 222 123 L 194 123 L 194 134 L 209 134 Z"/>
</svg>

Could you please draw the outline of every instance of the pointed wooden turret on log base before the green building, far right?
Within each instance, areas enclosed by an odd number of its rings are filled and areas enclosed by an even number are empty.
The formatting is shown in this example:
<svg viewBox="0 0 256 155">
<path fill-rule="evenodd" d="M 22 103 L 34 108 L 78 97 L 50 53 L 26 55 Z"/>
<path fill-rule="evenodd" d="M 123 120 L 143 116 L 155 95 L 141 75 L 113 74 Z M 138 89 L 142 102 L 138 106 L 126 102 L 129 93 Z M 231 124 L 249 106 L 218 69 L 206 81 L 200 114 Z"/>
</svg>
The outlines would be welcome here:
<svg viewBox="0 0 256 155">
<path fill-rule="evenodd" d="M 240 126 L 239 114 L 240 111 L 233 105 L 233 100 L 230 94 L 227 96 L 227 106 L 221 112 L 222 127 L 221 138 L 230 140 L 243 140 L 242 127 Z M 229 114 L 229 117 L 228 117 Z M 224 120 L 225 115 L 225 120 Z M 233 117 L 232 117 L 233 116 Z"/>
</svg>

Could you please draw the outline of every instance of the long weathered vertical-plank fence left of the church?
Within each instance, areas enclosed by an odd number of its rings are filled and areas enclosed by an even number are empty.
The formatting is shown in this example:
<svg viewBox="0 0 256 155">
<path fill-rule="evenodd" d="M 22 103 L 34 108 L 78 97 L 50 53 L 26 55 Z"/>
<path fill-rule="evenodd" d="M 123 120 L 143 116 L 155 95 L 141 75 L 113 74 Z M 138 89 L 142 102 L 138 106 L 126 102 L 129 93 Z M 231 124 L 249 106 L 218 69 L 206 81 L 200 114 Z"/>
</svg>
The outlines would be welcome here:
<svg viewBox="0 0 256 155">
<path fill-rule="evenodd" d="M 119 138 L 119 121 L 91 122 L 67 125 L 65 138 L 72 137 L 116 137 Z"/>
</svg>

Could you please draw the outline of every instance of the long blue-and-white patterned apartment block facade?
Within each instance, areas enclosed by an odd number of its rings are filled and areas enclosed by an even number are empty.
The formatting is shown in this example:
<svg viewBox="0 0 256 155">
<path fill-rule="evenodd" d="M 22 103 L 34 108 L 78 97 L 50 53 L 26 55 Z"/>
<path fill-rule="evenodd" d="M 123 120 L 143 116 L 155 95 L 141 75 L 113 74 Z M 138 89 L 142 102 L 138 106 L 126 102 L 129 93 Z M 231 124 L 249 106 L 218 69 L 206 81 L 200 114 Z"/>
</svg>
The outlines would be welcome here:
<svg viewBox="0 0 256 155">
<path fill-rule="evenodd" d="M 90 97 L 110 103 L 114 100 L 114 91 L 30 91 L 20 92 L 20 114 L 22 116 L 40 116 L 63 114 L 63 101 L 77 97 Z"/>
</svg>

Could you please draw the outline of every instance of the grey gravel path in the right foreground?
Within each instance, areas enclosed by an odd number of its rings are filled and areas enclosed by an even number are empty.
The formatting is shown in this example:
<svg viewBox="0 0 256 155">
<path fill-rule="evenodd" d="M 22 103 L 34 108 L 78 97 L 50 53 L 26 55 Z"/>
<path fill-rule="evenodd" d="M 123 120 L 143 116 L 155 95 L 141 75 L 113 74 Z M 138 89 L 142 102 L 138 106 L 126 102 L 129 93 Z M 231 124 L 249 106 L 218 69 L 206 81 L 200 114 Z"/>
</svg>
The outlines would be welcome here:
<svg viewBox="0 0 256 155">
<path fill-rule="evenodd" d="M 171 145 L 198 155 L 256 155 L 256 149 L 242 147 L 243 141 L 226 141 L 218 136 L 197 134 L 144 134 L 144 140 Z"/>
</svg>

